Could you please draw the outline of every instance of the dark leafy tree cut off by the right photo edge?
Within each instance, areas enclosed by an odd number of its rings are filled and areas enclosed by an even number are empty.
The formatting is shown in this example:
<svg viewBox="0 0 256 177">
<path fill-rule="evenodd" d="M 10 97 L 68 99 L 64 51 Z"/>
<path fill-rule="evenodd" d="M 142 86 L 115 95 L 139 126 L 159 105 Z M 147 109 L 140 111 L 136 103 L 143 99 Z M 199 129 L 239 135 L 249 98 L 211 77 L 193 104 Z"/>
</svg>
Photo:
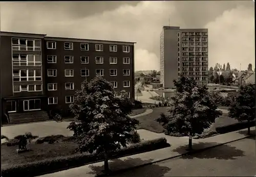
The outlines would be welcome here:
<svg viewBox="0 0 256 177">
<path fill-rule="evenodd" d="M 231 104 L 229 117 L 238 121 L 248 121 L 248 134 L 250 134 L 250 120 L 255 118 L 255 84 L 241 85 L 235 102 Z"/>
</svg>

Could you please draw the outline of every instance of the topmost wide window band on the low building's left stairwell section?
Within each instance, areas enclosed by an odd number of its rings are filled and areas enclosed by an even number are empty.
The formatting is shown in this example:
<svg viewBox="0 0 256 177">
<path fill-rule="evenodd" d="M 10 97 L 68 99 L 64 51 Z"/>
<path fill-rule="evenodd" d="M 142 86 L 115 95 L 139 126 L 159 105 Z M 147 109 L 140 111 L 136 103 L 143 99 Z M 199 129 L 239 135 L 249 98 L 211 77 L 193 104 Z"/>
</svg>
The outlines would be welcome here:
<svg viewBox="0 0 256 177">
<path fill-rule="evenodd" d="M 12 50 L 40 51 L 40 39 L 12 38 Z"/>
</svg>

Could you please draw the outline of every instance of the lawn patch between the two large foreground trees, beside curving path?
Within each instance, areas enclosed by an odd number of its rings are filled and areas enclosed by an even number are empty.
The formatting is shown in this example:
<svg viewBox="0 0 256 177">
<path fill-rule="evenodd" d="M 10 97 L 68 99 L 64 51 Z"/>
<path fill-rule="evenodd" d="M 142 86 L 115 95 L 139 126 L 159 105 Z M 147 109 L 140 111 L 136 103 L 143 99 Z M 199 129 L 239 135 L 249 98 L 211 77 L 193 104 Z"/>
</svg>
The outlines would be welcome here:
<svg viewBox="0 0 256 177">
<path fill-rule="evenodd" d="M 163 133 L 162 126 L 155 121 L 155 119 L 158 118 L 161 113 L 166 113 L 167 109 L 168 107 L 154 108 L 153 113 L 137 117 L 136 119 L 140 121 L 137 129 L 145 129 L 155 133 Z"/>
</svg>

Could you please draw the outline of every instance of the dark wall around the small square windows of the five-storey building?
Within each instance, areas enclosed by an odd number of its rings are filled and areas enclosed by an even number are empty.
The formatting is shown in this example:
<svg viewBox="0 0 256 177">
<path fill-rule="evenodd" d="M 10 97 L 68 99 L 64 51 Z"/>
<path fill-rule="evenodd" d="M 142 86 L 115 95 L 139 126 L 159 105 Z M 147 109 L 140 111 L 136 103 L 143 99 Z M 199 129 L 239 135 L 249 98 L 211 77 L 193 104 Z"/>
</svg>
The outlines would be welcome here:
<svg viewBox="0 0 256 177">
<path fill-rule="evenodd" d="M 53 39 L 54 40 L 54 39 Z M 57 91 L 47 91 L 48 97 L 57 96 L 58 105 L 63 108 L 68 108 L 69 104 L 65 103 L 65 96 L 74 95 L 75 90 L 81 88 L 81 82 L 86 80 L 90 82 L 96 77 L 96 69 L 104 69 L 104 78 L 108 81 L 117 81 L 115 91 L 119 93 L 125 90 L 131 93 L 131 98 L 134 97 L 134 60 L 133 60 L 133 45 L 130 45 L 130 53 L 123 53 L 122 45 L 117 45 L 117 52 L 109 52 L 110 44 L 103 44 L 103 52 L 95 51 L 96 43 L 89 43 L 89 51 L 80 50 L 81 42 L 73 42 L 73 50 L 65 50 L 64 43 L 70 42 L 65 40 L 55 39 L 56 49 L 47 49 L 47 40 L 45 42 L 45 55 L 57 56 L 57 63 L 47 63 L 47 69 L 57 69 L 57 77 L 47 77 L 47 83 L 57 83 Z M 71 41 L 72 42 L 72 41 Z M 100 43 L 99 43 L 100 44 Z M 73 56 L 73 63 L 65 63 L 65 56 Z M 80 57 L 88 56 L 89 64 L 81 64 Z M 95 57 L 104 57 L 103 64 L 96 64 Z M 117 57 L 117 64 L 110 64 L 110 57 Z M 130 57 L 130 64 L 123 64 L 123 57 Z M 81 69 L 89 69 L 89 77 L 81 77 Z M 65 69 L 74 69 L 74 77 L 65 77 Z M 117 76 L 110 76 L 110 69 L 117 69 Z M 130 76 L 123 76 L 123 69 L 130 69 Z M 47 73 L 47 71 L 46 71 Z M 131 87 L 124 88 L 123 81 L 130 81 Z M 74 83 L 74 90 L 65 90 L 65 83 Z M 55 105 L 51 105 L 54 107 Z"/>
</svg>

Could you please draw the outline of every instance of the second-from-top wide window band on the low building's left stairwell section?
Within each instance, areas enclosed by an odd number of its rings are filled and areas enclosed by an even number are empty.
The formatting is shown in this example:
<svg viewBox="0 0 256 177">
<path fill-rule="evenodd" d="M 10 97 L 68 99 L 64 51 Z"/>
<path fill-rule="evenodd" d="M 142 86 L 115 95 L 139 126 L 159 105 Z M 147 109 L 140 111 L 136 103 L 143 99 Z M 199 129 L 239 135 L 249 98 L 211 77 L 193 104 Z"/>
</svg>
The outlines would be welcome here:
<svg viewBox="0 0 256 177">
<path fill-rule="evenodd" d="M 41 66 L 40 55 L 12 55 L 13 66 Z"/>
</svg>

